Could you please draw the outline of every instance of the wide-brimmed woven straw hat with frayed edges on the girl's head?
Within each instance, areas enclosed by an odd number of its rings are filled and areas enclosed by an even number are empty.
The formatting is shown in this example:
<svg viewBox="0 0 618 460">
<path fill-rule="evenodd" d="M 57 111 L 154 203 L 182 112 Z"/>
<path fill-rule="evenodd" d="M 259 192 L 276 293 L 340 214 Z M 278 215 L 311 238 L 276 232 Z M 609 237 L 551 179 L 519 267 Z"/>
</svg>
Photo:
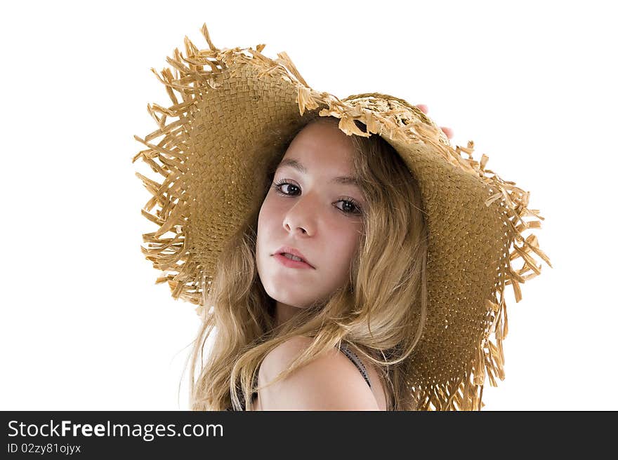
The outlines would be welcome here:
<svg viewBox="0 0 618 460">
<path fill-rule="evenodd" d="M 219 49 L 206 25 L 202 34 L 209 49 L 185 37 L 186 55 L 176 49 L 168 57 L 175 74 L 152 69 L 172 103 L 149 105 L 158 128 L 136 136 L 147 149 L 133 162 L 141 158 L 162 179 L 136 172 L 152 194 L 142 214 L 159 226 L 143 234 L 142 248 L 163 271 L 157 283 L 167 282 L 174 298 L 203 313 L 218 255 L 256 215 L 265 174 L 283 156 L 286 134 L 319 110 L 338 118 L 343 133 L 383 137 L 419 182 L 429 230 L 428 311 L 412 355 L 412 388 L 421 410 L 480 409 L 485 379 L 492 386 L 504 379 L 505 287 L 512 286 L 519 302 L 520 283 L 540 273 L 534 257 L 551 266 L 536 236 L 522 236 L 541 223 L 523 217 L 544 219 L 527 208 L 530 193 L 486 169 L 487 156 L 473 160 L 473 142 L 453 148 L 405 100 L 378 93 L 340 100 L 310 88 L 286 53 L 272 60 L 262 54 L 263 44 Z M 518 258 L 520 269 L 513 266 Z"/>
</svg>

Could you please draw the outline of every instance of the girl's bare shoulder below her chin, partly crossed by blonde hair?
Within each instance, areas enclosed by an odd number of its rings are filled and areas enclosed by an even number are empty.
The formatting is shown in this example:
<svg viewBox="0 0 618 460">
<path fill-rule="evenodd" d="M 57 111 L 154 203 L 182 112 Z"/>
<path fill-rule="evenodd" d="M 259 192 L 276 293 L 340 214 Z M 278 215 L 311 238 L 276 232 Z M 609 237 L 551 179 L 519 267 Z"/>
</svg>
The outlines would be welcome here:
<svg viewBox="0 0 618 460">
<path fill-rule="evenodd" d="M 270 351 L 260 367 L 259 384 L 268 383 L 286 370 L 311 341 L 296 336 Z M 259 398 L 263 410 L 378 410 L 367 382 L 337 349 L 263 388 Z"/>
</svg>

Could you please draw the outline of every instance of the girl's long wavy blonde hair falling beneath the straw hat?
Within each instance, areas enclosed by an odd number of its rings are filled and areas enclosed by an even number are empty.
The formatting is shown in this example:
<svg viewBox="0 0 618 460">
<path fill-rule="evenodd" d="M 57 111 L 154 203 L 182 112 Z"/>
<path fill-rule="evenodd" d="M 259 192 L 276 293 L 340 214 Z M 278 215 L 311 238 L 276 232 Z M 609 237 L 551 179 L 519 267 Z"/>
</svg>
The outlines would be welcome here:
<svg viewBox="0 0 618 460">
<path fill-rule="evenodd" d="M 317 120 L 338 121 L 316 114 L 310 122 Z M 286 140 L 279 160 L 305 126 Z M 357 126 L 366 132 L 364 124 Z M 388 410 L 416 409 L 410 356 L 426 318 L 428 240 L 419 185 L 379 135 L 352 140 L 367 206 L 345 285 L 277 327 L 275 301 L 256 268 L 256 210 L 218 259 L 216 278 L 203 297 L 203 322 L 189 357 L 192 410 L 250 408 L 251 395 L 262 388 L 256 375 L 263 359 L 296 335 L 313 338 L 311 346 L 269 384 L 347 341 L 381 371 Z M 265 177 L 264 197 L 275 169 L 272 165 Z"/>
</svg>

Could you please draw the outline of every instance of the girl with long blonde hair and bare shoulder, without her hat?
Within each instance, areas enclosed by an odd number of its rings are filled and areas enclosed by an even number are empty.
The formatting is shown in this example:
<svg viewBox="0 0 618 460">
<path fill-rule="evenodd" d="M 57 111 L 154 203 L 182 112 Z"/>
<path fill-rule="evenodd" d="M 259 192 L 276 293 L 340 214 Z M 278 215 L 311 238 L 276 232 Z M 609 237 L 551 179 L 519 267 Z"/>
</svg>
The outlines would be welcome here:
<svg viewBox="0 0 618 460">
<path fill-rule="evenodd" d="M 230 330 L 215 339 L 209 363 L 199 374 L 192 392 L 194 409 L 228 405 L 228 379 L 235 381 L 237 374 L 241 388 L 242 378 L 250 380 L 258 369 L 260 386 L 282 370 L 291 374 L 291 360 L 300 351 L 305 351 L 303 357 L 313 356 L 309 337 L 320 332 L 325 344 L 346 337 L 360 358 L 357 365 L 367 369 L 367 379 L 343 353 L 325 353 L 281 384 L 254 393 L 256 407 L 387 410 L 395 400 L 398 409 L 412 408 L 411 402 L 402 406 L 409 398 L 400 390 L 404 382 L 397 381 L 403 374 L 393 374 L 395 381 L 390 381 L 388 372 L 383 374 L 380 351 L 393 344 L 412 348 L 419 337 L 421 324 L 410 321 L 409 313 L 423 308 L 426 228 L 418 186 L 381 137 L 348 137 L 337 124 L 334 118 L 317 119 L 294 137 L 274 177 L 269 176 L 257 234 L 248 226 L 241 241 L 222 256 L 221 286 L 216 285 L 221 294 L 209 302 L 221 311 L 219 330 Z M 374 241 L 366 241 L 367 233 Z M 359 255 L 368 247 L 372 255 L 359 265 Z M 304 262 L 282 255 L 286 249 L 301 252 Z M 244 285 L 238 273 L 250 273 Z M 393 293 L 386 279 L 403 287 Z M 239 298 L 237 305 L 225 301 L 228 283 L 246 292 L 232 293 Z M 247 324 L 254 330 L 241 335 L 243 346 L 249 346 L 239 358 L 234 325 Z M 371 334 L 367 325 L 373 325 Z M 215 326 L 216 313 L 204 323 L 196 351 Z M 198 358 L 195 354 L 193 370 Z M 213 377 L 218 369 L 225 370 Z"/>
</svg>

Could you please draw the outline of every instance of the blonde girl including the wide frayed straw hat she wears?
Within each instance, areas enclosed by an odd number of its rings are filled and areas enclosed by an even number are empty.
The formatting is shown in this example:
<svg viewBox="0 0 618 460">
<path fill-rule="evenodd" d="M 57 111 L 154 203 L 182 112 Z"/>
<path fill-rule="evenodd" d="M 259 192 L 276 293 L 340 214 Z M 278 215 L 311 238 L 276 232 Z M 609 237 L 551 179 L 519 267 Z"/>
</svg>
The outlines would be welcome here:
<svg viewBox="0 0 618 460">
<path fill-rule="evenodd" d="M 532 254 L 549 264 L 521 236 L 542 219 L 529 194 L 405 100 L 339 100 L 285 53 L 202 32 L 209 50 L 185 39 L 159 76 L 173 105 L 150 107 L 133 158 L 164 177 L 138 174 L 157 281 L 199 304 L 192 409 L 480 409 L 504 378 L 505 285 L 519 302 Z"/>
</svg>

